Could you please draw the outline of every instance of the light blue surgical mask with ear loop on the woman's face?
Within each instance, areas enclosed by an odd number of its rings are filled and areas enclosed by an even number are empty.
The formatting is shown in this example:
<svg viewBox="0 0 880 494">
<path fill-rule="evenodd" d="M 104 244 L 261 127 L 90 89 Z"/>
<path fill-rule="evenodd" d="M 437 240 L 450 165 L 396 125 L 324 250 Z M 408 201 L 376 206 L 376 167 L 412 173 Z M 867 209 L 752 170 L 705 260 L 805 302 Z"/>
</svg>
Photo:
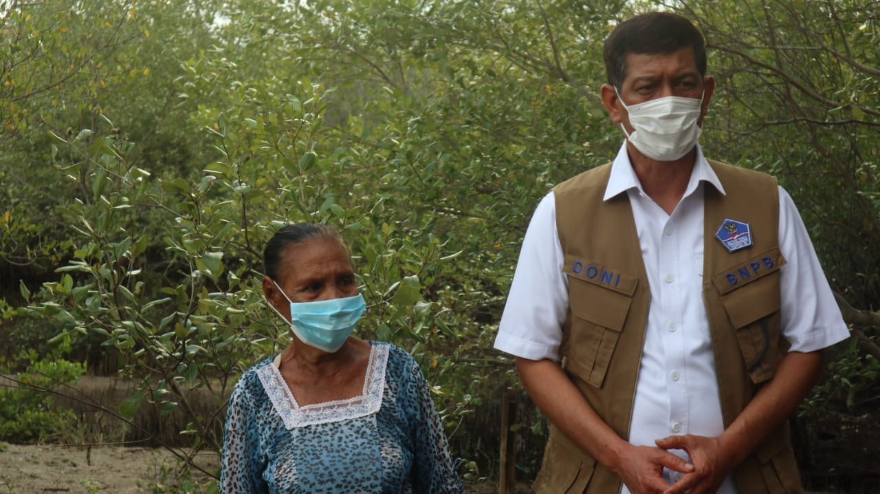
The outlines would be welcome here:
<svg viewBox="0 0 880 494">
<path fill-rule="evenodd" d="M 276 283 L 275 287 L 290 302 L 281 287 Z M 269 306 L 275 313 L 282 315 L 275 309 L 275 306 L 272 304 Z M 367 304 L 363 301 L 363 296 L 360 293 L 354 297 L 342 299 L 290 302 L 290 330 L 299 341 L 319 350 L 333 353 L 341 348 L 342 343 L 345 343 L 366 310 Z M 282 316 L 283 318 L 284 316 Z"/>
</svg>

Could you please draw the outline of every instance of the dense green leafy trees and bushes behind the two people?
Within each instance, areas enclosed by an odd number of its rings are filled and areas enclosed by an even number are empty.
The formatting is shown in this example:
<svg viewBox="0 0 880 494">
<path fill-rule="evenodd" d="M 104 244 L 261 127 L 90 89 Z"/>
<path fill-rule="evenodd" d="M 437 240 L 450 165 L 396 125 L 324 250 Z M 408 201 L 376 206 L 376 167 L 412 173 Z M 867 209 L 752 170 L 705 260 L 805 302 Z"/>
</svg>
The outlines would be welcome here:
<svg viewBox="0 0 880 494">
<path fill-rule="evenodd" d="M 0 1 L 4 370 L 63 342 L 140 383 L 121 418 L 183 412 L 189 446 L 216 448 L 224 394 L 287 341 L 262 301 L 264 241 L 329 223 L 370 305 L 358 335 L 414 354 L 468 471 L 493 471 L 495 450 L 467 439 L 517 386 L 491 343 L 524 227 L 555 183 L 617 151 L 602 42 L 656 9 L 706 35 L 708 156 L 778 175 L 862 310 L 808 408 L 876 414 L 869 0 Z M 190 406 L 199 388 L 215 413 Z"/>
</svg>

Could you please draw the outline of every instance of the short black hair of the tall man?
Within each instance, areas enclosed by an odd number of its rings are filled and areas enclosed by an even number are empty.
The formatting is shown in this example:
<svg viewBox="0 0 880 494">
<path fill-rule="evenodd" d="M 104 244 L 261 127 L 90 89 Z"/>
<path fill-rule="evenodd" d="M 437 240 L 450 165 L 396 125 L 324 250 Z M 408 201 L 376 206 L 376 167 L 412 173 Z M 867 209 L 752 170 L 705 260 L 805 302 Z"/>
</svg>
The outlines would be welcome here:
<svg viewBox="0 0 880 494">
<path fill-rule="evenodd" d="M 671 12 L 649 12 L 621 22 L 605 40 L 608 84 L 620 89 L 627 78 L 627 54 L 672 53 L 693 47 L 700 75 L 706 75 L 706 43 L 687 18 Z"/>
</svg>

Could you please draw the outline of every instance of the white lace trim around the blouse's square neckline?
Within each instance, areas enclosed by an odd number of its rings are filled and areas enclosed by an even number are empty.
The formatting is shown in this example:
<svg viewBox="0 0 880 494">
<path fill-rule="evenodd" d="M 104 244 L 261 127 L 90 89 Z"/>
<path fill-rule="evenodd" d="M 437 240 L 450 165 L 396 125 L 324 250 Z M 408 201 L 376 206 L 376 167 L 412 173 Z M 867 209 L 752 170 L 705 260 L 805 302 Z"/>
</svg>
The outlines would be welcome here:
<svg viewBox="0 0 880 494">
<path fill-rule="evenodd" d="M 281 416 L 284 427 L 288 430 L 304 425 L 340 422 L 351 418 L 364 417 L 376 413 L 382 405 L 385 393 L 385 366 L 388 364 L 388 346 L 372 345 L 370 362 L 363 379 L 363 393 L 358 396 L 332 402 L 312 403 L 299 406 L 297 399 L 290 392 L 287 382 L 274 365 L 263 365 L 257 369 L 257 375 L 272 408 Z"/>
</svg>

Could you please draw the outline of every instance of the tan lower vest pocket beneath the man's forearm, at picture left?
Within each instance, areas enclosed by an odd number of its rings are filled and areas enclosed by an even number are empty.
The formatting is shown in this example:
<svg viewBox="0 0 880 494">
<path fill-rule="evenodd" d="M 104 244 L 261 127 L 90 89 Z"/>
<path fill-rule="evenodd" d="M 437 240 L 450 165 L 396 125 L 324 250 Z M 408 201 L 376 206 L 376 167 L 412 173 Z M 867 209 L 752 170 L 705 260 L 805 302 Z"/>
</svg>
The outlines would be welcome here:
<svg viewBox="0 0 880 494">
<path fill-rule="evenodd" d="M 538 493 L 583 494 L 595 469 L 596 460 L 551 426 L 541 469 L 532 489 Z"/>
</svg>

